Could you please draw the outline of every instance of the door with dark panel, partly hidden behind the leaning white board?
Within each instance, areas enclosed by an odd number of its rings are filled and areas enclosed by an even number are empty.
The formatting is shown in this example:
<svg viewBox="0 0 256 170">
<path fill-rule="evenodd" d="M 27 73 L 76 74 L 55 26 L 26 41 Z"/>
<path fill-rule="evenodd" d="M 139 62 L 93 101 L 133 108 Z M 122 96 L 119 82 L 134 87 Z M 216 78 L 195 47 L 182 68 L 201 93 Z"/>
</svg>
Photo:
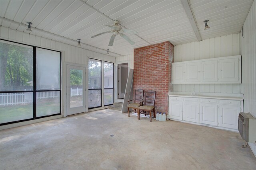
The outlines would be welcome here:
<svg viewBox="0 0 256 170">
<path fill-rule="evenodd" d="M 119 79 L 118 79 L 118 98 L 124 98 L 126 83 L 128 79 L 128 65 L 119 64 Z"/>
</svg>

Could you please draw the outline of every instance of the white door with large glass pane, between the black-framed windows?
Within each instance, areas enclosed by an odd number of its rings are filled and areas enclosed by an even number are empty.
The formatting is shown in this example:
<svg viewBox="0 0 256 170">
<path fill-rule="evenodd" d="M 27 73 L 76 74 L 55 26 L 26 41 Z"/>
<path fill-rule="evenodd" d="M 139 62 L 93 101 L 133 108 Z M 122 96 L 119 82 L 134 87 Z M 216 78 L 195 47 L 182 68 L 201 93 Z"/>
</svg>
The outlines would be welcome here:
<svg viewBox="0 0 256 170">
<path fill-rule="evenodd" d="M 85 67 L 67 65 L 67 115 L 85 111 Z"/>
</svg>

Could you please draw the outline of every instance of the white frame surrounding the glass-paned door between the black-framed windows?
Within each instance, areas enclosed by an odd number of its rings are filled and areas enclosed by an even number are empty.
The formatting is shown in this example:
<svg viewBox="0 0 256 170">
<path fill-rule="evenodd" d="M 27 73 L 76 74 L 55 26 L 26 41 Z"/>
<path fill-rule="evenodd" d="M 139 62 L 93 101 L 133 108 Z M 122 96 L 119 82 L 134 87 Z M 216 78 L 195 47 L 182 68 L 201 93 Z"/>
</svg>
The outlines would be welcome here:
<svg viewBox="0 0 256 170">
<path fill-rule="evenodd" d="M 79 67 L 84 67 L 85 68 L 85 104 L 86 104 L 86 108 L 85 108 L 85 112 L 88 112 L 88 64 L 76 64 L 76 63 L 69 63 L 69 62 L 63 62 L 63 78 L 62 78 L 62 89 L 63 89 L 63 105 L 62 105 L 62 110 L 63 110 L 63 116 L 67 117 L 67 107 L 68 107 L 68 99 L 67 99 L 67 66 L 71 65 L 71 66 L 79 66 Z"/>
</svg>

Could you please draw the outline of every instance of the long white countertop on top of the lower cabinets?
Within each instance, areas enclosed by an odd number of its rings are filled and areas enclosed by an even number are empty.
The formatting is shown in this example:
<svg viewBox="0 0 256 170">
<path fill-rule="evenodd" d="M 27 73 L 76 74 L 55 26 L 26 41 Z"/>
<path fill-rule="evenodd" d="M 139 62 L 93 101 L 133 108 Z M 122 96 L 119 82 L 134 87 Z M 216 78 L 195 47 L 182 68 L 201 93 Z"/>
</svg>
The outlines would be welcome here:
<svg viewBox="0 0 256 170">
<path fill-rule="evenodd" d="M 190 92 L 169 92 L 169 96 L 173 97 L 188 97 L 188 98 L 211 98 L 211 99 L 224 99 L 224 100 L 243 100 L 244 94 L 227 94 L 227 93 L 196 93 L 191 95 Z"/>
</svg>

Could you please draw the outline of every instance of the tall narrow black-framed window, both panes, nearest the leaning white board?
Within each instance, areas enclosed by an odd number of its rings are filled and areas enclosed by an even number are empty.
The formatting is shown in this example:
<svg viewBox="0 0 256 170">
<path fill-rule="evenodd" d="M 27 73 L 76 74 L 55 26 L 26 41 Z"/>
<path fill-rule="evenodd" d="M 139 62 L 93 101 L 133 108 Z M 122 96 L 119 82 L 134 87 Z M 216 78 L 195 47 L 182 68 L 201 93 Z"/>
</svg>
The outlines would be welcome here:
<svg viewBox="0 0 256 170">
<path fill-rule="evenodd" d="M 104 106 L 114 102 L 114 64 L 104 62 Z"/>
</svg>

